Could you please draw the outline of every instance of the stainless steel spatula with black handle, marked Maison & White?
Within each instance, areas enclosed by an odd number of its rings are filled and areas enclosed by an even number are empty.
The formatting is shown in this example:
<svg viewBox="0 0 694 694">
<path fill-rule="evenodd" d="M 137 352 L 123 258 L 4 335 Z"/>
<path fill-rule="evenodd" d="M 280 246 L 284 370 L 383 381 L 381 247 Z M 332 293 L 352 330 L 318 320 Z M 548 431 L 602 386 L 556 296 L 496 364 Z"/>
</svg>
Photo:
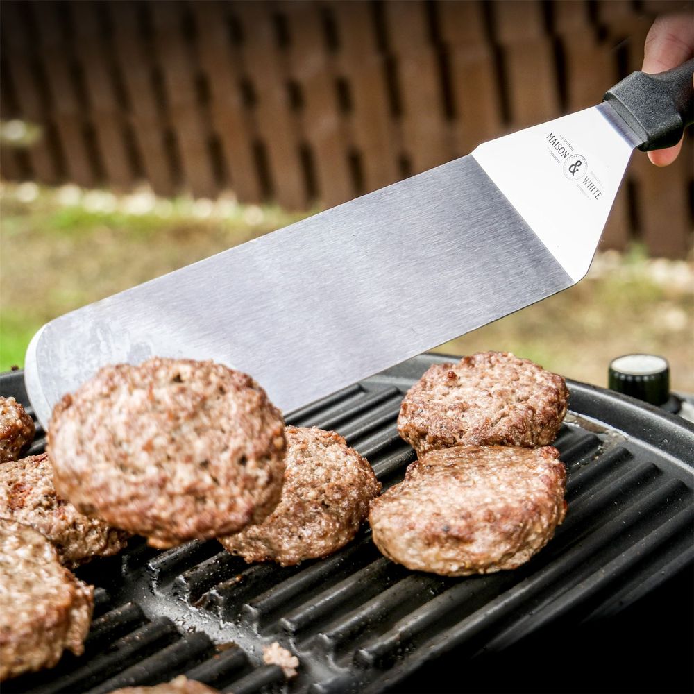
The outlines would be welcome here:
<svg viewBox="0 0 694 694">
<path fill-rule="evenodd" d="M 581 279 L 635 147 L 692 121 L 694 60 L 605 101 L 51 321 L 26 353 L 43 425 L 100 366 L 214 359 L 294 409 Z"/>
</svg>

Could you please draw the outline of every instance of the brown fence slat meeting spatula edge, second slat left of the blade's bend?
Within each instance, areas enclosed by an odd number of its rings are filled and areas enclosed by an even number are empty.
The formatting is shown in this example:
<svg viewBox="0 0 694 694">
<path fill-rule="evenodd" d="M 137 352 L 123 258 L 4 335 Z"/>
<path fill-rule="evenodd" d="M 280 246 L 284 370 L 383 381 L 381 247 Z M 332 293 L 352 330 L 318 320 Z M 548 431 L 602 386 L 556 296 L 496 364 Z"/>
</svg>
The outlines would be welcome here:
<svg viewBox="0 0 694 694">
<path fill-rule="evenodd" d="M 350 85 L 350 122 L 362 156 L 364 192 L 369 192 L 400 178 L 384 56 L 378 51 L 368 0 L 337 0 L 331 8 L 340 29 L 339 64 Z"/>
</svg>

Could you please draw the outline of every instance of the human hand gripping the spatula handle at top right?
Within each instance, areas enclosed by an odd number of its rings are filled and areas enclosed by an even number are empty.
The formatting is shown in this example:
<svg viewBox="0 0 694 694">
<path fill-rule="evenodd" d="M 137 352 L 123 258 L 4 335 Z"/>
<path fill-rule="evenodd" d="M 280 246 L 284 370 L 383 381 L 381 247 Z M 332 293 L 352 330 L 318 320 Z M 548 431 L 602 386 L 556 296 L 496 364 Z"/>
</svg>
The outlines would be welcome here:
<svg viewBox="0 0 694 694">
<path fill-rule="evenodd" d="M 641 71 L 654 74 L 682 65 L 694 56 L 694 15 L 663 15 L 648 31 L 643 46 Z M 682 140 L 674 147 L 656 149 L 648 158 L 658 167 L 666 167 L 677 159 Z"/>
</svg>

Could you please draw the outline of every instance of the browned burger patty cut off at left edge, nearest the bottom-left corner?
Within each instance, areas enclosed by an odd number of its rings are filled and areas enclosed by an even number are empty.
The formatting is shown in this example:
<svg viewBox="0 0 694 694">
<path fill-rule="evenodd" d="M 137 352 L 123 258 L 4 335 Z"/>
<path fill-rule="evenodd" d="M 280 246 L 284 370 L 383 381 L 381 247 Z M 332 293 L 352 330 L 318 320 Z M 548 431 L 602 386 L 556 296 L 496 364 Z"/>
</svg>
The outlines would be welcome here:
<svg viewBox="0 0 694 694">
<path fill-rule="evenodd" d="M 40 532 L 0 519 L 0 679 L 52 668 L 65 648 L 81 654 L 93 593 Z"/>
</svg>

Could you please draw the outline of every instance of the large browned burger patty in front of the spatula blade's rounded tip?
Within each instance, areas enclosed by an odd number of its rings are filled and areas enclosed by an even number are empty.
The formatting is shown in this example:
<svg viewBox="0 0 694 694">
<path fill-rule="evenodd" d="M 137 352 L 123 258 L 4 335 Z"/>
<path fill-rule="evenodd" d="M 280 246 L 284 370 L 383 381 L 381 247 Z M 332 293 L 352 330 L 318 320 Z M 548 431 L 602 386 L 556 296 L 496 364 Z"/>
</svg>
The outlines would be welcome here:
<svg viewBox="0 0 694 694">
<path fill-rule="evenodd" d="M 53 410 L 56 492 L 155 547 L 260 523 L 285 470 L 284 422 L 248 375 L 154 358 L 105 366 Z"/>
</svg>

